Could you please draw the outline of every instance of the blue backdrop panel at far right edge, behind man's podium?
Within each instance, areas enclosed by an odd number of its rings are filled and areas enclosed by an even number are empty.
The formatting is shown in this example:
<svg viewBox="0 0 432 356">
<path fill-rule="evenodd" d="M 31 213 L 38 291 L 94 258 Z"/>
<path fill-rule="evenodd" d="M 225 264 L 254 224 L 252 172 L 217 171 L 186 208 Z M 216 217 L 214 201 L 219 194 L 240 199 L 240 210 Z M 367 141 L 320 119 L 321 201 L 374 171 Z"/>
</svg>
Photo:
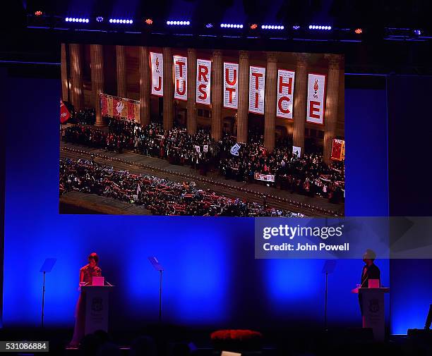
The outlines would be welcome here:
<svg viewBox="0 0 432 356">
<path fill-rule="evenodd" d="M 388 78 L 390 215 L 432 216 L 431 76 Z M 392 332 L 423 328 L 432 304 L 432 259 L 391 261 Z"/>
</svg>

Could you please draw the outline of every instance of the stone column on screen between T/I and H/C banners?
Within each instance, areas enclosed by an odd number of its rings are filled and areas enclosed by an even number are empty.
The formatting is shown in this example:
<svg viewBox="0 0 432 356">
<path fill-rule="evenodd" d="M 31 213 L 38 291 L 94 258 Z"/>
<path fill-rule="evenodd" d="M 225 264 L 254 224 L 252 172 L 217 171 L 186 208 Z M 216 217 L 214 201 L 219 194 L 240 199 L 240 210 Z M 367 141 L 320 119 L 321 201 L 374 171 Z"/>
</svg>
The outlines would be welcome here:
<svg viewBox="0 0 432 356">
<path fill-rule="evenodd" d="M 277 54 L 268 52 L 265 69 L 264 147 L 270 152 L 275 149 L 276 99 Z"/>
</svg>

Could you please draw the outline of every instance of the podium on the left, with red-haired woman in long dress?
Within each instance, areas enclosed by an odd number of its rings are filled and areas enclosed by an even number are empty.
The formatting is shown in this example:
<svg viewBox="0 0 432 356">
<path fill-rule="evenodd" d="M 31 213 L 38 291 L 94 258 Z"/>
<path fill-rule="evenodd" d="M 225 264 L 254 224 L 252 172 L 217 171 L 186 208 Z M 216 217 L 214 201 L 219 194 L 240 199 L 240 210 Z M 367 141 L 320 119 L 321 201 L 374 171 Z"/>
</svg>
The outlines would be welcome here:
<svg viewBox="0 0 432 356">
<path fill-rule="evenodd" d="M 82 286 L 85 300 L 84 335 L 108 331 L 109 291 L 112 286 Z"/>
</svg>

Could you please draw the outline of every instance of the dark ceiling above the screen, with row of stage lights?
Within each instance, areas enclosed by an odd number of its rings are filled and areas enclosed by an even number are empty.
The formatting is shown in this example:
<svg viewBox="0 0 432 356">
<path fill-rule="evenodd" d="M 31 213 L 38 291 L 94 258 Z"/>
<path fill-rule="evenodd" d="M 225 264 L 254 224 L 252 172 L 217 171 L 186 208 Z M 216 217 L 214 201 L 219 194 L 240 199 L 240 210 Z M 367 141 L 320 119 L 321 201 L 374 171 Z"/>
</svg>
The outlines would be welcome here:
<svg viewBox="0 0 432 356">
<path fill-rule="evenodd" d="M 3 63 L 58 63 L 61 42 L 93 42 L 333 52 L 345 54 L 348 73 L 432 75 L 429 0 L 26 0 L 10 4 L 0 22 Z M 43 15 L 35 16 L 35 11 Z M 67 16 L 89 18 L 90 23 L 86 27 L 65 24 Z M 97 16 L 104 22 L 97 23 Z M 134 24 L 113 27 L 108 18 L 133 18 Z M 145 18 L 152 18 L 152 26 L 146 27 Z M 172 29 L 167 20 L 190 20 L 191 26 Z M 207 23 L 214 27 L 206 29 Z M 220 23 L 242 23 L 244 30 L 225 31 Z M 250 29 L 252 23 L 258 24 L 257 30 Z M 265 23 L 284 25 L 285 30 L 265 32 L 260 29 Z M 311 23 L 332 25 L 332 31 L 311 33 Z M 300 29 L 294 31 L 293 25 Z M 354 34 L 357 27 L 363 29 L 362 35 Z M 417 29 L 421 36 L 414 34 Z"/>
</svg>

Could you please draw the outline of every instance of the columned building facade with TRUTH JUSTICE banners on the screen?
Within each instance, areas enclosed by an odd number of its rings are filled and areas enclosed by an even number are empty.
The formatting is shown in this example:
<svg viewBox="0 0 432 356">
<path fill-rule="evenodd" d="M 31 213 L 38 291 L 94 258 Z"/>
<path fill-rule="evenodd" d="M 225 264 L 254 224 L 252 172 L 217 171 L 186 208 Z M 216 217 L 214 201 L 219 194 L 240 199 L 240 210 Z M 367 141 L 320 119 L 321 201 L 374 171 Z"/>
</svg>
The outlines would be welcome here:
<svg viewBox="0 0 432 356">
<path fill-rule="evenodd" d="M 155 56 L 151 54 L 159 54 L 163 61 L 160 95 L 152 94 Z M 227 63 L 238 68 L 234 108 L 227 105 Z M 211 68 L 210 73 L 205 68 Z M 280 70 L 295 74 L 290 118 L 278 115 Z M 325 76 L 320 124 L 306 118 L 313 110 L 311 75 Z M 179 82 L 183 79 L 184 83 Z M 199 82 L 204 79 L 210 79 L 210 85 L 203 89 L 205 85 Z M 229 81 L 233 82 L 233 77 Z M 289 137 L 292 145 L 301 148 L 301 154 L 314 147 L 323 152 L 327 163 L 332 140 L 344 139 L 344 62 L 343 56 L 336 54 L 62 44 L 61 83 L 63 99 L 76 111 L 95 108 L 96 125 L 104 125 L 100 111 L 100 93 L 104 92 L 139 100 L 141 125 L 160 121 L 166 130 L 184 125 L 191 134 L 198 127 L 207 127 L 215 140 L 229 132 L 238 142 L 247 142 L 251 132 L 258 132 L 270 151 L 277 137 Z M 253 95 L 259 113 L 251 110 Z"/>
</svg>

